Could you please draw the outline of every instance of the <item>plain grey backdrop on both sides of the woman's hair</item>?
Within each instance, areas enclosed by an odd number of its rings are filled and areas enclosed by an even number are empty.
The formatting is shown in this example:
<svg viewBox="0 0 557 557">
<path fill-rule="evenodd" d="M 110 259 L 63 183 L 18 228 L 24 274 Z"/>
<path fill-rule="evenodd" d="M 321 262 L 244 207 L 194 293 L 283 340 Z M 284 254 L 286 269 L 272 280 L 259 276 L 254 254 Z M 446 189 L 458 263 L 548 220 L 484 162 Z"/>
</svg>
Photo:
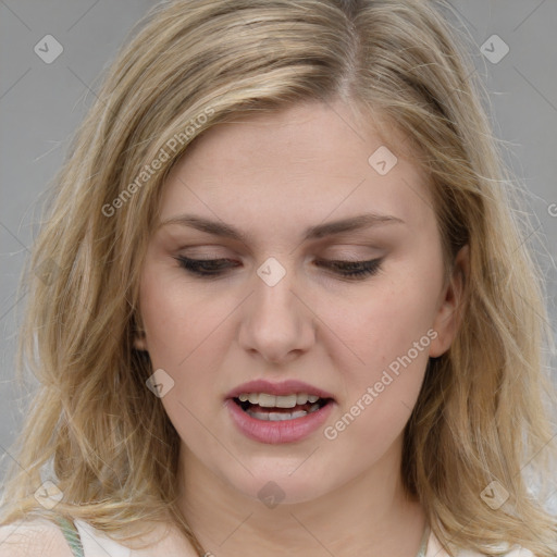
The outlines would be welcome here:
<svg viewBox="0 0 557 557">
<path fill-rule="evenodd" d="M 8 449 L 27 400 L 13 384 L 16 326 L 24 301 L 24 296 L 16 296 L 16 285 L 36 235 L 42 194 L 94 99 L 96 77 L 153 3 L 0 0 L 0 478 L 12 458 Z M 557 203 L 557 1 L 450 3 L 476 45 L 472 54 L 490 91 L 495 133 L 508 143 L 508 164 L 530 191 L 524 210 L 532 212 L 542 236 L 536 249 L 548 277 L 555 331 L 557 205 L 552 203 Z M 494 34 L 509 47 L 497 63 L 481 50 Z M 62 54 L 50 64 L 34 51 L 46 35 L 63 46 Z M 497 42 L 487 41 L 485 48 L 494 51 L 492 57 L 503 52 Z M 557 491 L 549 505 L 557 512 Z"/>
</svg>

